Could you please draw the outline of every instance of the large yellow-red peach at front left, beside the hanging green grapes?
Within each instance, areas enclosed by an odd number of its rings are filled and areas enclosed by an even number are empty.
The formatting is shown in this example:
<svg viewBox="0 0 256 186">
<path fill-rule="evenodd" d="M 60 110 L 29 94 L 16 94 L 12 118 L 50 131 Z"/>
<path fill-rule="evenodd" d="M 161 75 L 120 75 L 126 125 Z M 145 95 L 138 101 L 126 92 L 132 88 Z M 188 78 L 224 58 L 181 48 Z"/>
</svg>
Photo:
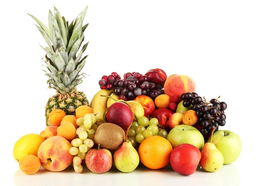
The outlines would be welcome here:
<svg viewBox="0 0 256 186">
<path fill-rule="evenodd" d="M 38 158 L 41 165 L 53 172 L 67 169 L 74 157 L 69 152 L 71 147 L 70 142 L 61 136 L 52 136 L 46 139 L 38 149 Z"/>
</svg>

